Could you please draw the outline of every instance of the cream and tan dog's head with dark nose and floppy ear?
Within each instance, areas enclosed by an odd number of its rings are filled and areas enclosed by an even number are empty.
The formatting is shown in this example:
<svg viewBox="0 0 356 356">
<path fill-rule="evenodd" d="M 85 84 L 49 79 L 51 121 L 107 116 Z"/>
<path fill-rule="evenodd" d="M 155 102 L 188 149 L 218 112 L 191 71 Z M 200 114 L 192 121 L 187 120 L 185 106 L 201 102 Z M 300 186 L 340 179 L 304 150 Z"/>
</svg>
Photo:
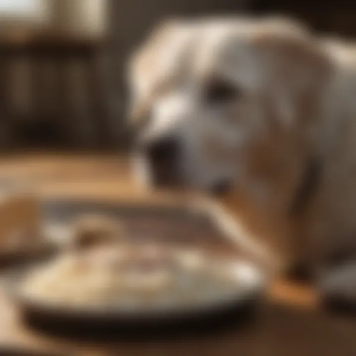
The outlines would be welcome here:
<svg viewBox="0 0 356 356">
<path fill-rule="evenodd" d="M 308 31 L 266 19 L 164 23 L 130 63 L 140 165 L 202 190 L 300 154 L 329 67 Z"/>
</svg>

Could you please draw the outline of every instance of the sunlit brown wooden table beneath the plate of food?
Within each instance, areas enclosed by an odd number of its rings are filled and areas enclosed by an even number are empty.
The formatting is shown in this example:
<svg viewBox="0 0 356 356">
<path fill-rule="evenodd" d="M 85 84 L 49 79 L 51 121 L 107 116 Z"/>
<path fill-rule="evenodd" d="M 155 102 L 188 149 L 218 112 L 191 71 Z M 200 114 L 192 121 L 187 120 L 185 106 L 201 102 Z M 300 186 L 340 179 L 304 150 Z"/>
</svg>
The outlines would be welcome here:
<svg viewBox="0 0 356 356">
<path fill-rule="evenodd" d="M 0 184 L 9 180 L 31 186 L 44 197 L 145 199 L 128 177 L 127 162 L 108 156 L 7 157 L 0 160 Z M 324 312 L 312 288 L 288 281 L 276 282 L 270 288 L 266 304 L 256 320 L 246 327 L 206 339 L 162 343 L 78 342 L 39 334 L 21 323 L 11 301 L 0 293 L 0 351 L 1 347 L 17 347 L 63 356 L 188 356 L 198 353 L 210 356 L 355 356 L 355 335 L 356 317 Z"/>
</svg>

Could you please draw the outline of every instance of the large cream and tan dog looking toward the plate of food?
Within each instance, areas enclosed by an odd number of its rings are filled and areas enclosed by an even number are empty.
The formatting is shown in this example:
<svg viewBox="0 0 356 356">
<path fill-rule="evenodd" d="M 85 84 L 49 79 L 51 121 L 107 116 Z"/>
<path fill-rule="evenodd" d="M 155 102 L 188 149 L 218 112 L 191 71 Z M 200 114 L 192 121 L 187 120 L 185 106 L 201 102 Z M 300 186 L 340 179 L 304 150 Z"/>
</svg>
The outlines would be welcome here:
<svg viewBox="0 0 356 356">
<path fill-rule="evenodd" d="M 216 193 L 228 231 L 278 270 L 352 258 L 351 52 L 278 19 L 162 24 L 129 71 L 149 183 Z"/>
</svg>

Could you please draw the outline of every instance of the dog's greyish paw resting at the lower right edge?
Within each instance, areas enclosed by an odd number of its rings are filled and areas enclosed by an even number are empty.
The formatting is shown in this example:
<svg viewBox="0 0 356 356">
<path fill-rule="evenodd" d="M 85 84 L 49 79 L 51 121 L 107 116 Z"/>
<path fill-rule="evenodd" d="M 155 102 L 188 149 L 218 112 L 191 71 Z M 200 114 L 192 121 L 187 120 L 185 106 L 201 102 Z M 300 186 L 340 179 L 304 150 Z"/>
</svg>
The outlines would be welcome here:
<svg viewBox="0 0 356 356">
<path fill-rule="evenodd" d="M 318 286 L 324 305 L 356 312 L 356 261 L 329 269 L 318 280 Z"/>
</svg>

